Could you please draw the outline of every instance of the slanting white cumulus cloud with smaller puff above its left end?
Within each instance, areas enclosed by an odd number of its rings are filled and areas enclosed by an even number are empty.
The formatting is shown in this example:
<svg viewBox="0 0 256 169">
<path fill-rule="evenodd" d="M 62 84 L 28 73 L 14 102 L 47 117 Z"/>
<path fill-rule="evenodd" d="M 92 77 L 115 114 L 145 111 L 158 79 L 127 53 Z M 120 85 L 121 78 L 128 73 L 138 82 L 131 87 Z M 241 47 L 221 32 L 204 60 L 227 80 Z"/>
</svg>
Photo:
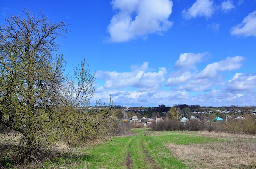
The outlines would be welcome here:
<svg viewBox="0 0 256 169">
<path fill-rule="evenodd" d="M 176 63 L 184 63 L 181 65 L 185 67 L 187 67 L 189 63 L 193 66 L 193 64 L 201 62 L 204 56 L 204 54 L 200 53 L 191 53 L 189 58 L 184 57 L 186 55 L 183 55 L 184 53 L 180 55 L 180 58 Z M 193 60 L 193 56 L 197 56 L 195 57 L 195 60 Z M 185 60 L 187 60 L 186 64 Z M 179 71 L 170 73 L 171 77 L 168 78 L 166 86 L 174 86 L 177 90 L 208 91 L 211 87 L 224 85 L 220 72 L 239 69 L 242 66 L 243 60 L 244 57 L 242 56 L 227 57 L 220 62 L 208 64 L 199 73 L 196 69 L 194 69 L 194 71 L 182 71 L 183 67 L 180 67 Z M 195 67 L 195 65 L 193 67 Z"/>
</svg>

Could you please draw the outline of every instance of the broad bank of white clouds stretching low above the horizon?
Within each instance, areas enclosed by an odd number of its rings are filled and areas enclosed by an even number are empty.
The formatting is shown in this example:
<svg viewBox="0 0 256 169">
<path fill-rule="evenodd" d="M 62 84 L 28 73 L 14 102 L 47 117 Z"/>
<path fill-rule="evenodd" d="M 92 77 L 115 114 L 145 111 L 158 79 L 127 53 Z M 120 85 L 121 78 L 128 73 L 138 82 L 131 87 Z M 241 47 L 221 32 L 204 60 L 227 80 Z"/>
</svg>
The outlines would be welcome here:
<svg viewBox="0 0 256 169">
<path fill-rule="evenodd" d="M 193 56 L 195 60 L 192 60 Z M 123 106 L 248 104 L 249 96 L 256 93 L 256 75 L 236 72 L 230 80 L 222 78 L 223 72 L 240 69 L 245 58 L 227 57 L 206 65 L 198 73 L 196 65 L 204 64 L 204 56 L 201 53 L 182 53 L 175 63 L 179 70 L 169 73 L 164 67 L 152 71 L 148 62 L 131 66 L 128 72 L 97 71 L 97 80 L 104 83 L 97 86 L 92 101 L 107 100 L 111 94 L 115 105 Z M 186 69 L 189 63 L 194 69 Z"/>
</svg>

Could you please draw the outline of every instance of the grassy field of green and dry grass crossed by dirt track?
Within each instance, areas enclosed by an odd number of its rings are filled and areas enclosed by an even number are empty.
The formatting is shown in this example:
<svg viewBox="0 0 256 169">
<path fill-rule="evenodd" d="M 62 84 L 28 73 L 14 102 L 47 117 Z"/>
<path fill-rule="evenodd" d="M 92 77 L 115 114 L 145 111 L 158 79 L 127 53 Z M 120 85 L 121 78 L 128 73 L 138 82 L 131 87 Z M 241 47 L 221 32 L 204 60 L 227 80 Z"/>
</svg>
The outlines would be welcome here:
<svg viewBox="0 0 256 169">
<path fill-rule="evenodd" d="M 256 136 L 215 132 L 154 132 L 112 137 L 44 162 L 63 169 L 256 169 Z"/>
</svg>

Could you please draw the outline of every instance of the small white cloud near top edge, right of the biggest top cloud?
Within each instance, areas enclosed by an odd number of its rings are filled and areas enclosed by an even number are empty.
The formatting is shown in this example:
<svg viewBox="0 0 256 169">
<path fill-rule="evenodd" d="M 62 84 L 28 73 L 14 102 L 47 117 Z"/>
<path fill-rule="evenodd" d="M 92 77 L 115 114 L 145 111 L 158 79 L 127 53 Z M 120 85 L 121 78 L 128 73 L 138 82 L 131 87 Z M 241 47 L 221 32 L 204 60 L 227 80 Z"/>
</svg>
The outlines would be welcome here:
<svg viewBox="0 0 256 169">
<path fill-rule="evenodd" d="M 204 16 L 205 18 L 211 18 L 215 9 L 213 1 L 211 0 L 197 0 L 189 9 L 184 9 L 182 14 L 185 18 L 196 18 L 198 16 Z"/>
</svg>

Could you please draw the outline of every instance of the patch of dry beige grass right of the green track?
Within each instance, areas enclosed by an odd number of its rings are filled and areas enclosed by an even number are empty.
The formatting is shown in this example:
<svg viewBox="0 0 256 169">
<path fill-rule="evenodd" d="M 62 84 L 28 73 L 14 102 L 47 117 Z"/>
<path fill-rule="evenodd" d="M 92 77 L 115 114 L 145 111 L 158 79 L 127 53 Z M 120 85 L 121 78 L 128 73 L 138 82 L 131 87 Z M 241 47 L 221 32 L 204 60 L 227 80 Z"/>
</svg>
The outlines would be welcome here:
<svg viewBox="0 0 256 169">
<path fill-rule="evenodd" d="M 256 136 L 198 132 L 200 136 L 228 142 L 175 145 L 168 148 L 184 164 L 195 169 L 256 169 Z"/>
</svg>

